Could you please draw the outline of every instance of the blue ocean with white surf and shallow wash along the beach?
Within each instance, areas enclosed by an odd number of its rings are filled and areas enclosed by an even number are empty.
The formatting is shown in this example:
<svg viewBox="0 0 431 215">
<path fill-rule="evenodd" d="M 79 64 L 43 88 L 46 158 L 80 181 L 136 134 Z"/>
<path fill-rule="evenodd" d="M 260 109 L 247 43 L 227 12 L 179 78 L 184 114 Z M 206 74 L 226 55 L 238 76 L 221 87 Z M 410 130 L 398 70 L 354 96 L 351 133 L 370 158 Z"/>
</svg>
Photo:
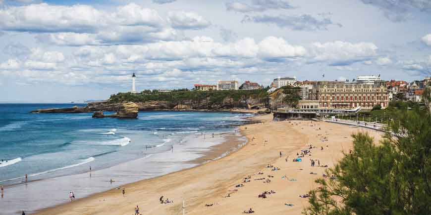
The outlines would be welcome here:
<svg viewBox="0 0 431 215">
<path fill-rule="evenodd" d="M 30 113 L 72 105 L 85 104 L 0 104 L 0 214 L 32 213 L 67 202 L 70 191 L 80 198 L 196 166 L 190 161 L 227 133 L 237 134 L 250 116 L 154 111 L 139 112 L 138 119 L 92 119 L 92 113 Z"/>
</svg>

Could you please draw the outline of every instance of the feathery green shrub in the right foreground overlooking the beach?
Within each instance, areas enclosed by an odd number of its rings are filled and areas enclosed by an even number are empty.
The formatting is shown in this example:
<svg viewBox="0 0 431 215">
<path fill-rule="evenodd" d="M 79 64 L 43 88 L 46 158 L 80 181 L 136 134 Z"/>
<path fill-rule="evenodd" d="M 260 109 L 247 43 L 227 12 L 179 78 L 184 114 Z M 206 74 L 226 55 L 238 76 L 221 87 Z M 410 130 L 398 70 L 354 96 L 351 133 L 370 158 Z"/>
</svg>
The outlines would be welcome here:
<svg viewBox="0 0 431 215">
<path fill-rule="evenodd" d="M 425 215 L 431 211 L 431 118 L 419 107 L 393 110 L 379 144 L 353 134 L 354 149 L 310 191 L 305 215 Z"/>
</svg>

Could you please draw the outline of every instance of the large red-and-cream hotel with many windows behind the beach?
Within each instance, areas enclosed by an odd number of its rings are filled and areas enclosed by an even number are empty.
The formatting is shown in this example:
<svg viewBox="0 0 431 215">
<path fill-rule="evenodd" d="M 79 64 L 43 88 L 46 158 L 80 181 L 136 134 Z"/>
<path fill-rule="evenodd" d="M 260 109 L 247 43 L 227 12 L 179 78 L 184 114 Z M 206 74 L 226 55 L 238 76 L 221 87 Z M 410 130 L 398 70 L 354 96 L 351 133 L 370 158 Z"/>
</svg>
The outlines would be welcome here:
<svg viewBox="0 0 431 215">
<path fill-rule="evenodd" d="M 313 86 L 308 100 L 300 100 L 301 109 L 386 108 L 389 103 L 384 82 L 377 76 L 358 76 L 351 82 L 320 81 Z"/>
</svg>

